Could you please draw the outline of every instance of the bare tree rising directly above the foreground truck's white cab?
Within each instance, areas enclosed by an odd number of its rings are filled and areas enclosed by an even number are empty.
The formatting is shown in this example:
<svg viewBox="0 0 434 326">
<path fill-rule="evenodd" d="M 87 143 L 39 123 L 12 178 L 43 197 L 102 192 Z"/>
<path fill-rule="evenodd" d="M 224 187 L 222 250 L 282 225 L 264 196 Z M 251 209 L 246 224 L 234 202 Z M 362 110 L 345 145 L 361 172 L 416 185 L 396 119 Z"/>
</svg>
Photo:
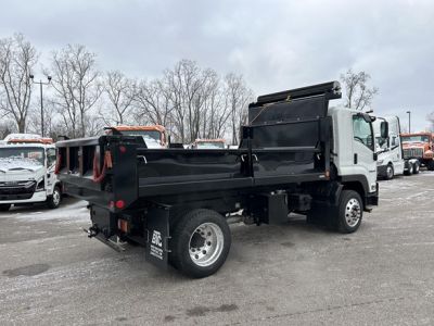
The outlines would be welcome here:
<svg viewBox="0 0 434 326">
<path fill-rule="evenodd" d="M 354 110 L 363 110 L 372 103 L 373 97 L 379 92 L 376 87 L 368 87 L 371 76 L 366 72 L 354 73 L 348 70 L 341 74 L 341 80 L 344 84 L 345 106 Z"/>
</svg>

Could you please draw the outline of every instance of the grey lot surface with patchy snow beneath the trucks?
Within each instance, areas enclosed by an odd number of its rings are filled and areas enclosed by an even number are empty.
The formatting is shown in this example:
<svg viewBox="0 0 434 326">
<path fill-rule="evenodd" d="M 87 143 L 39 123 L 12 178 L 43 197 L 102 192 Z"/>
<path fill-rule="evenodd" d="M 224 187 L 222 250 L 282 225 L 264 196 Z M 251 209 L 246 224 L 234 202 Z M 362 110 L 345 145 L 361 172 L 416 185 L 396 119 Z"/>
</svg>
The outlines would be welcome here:
<svg viewBox="0 0 434 326">
<path fill-rule="evenodd" d="M 358 233 L 294 216 L 232 227 L 214 276 L 191 280 L 81 231 L 86 203 L 0 215 L 0 324 L 434 324 L 434 173 L 381 181 Z"/>
</svg>

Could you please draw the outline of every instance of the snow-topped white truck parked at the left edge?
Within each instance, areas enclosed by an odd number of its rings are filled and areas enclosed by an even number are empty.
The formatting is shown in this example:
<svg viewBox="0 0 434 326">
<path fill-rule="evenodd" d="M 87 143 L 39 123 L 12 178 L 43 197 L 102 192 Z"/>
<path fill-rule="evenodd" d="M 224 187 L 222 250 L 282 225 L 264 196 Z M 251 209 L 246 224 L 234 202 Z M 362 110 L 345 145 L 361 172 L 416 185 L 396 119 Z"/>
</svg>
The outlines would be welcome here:
<svg viewBox="0 0 434 326">
<path fill-rule="evenodd" d="M 61 183 L 54 174 L 55 146 L 37 135 L 12 134 L 0 145 L 0 211 L 11 205 L 61 204 Z"/>
</svg>

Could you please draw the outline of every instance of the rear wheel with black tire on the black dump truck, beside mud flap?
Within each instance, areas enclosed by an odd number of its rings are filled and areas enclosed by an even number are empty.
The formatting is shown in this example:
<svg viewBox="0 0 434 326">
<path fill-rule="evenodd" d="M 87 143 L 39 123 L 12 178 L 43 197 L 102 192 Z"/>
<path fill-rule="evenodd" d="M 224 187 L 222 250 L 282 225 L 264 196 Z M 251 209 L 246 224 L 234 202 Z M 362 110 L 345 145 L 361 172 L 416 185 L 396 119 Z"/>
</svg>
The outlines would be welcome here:
<svg viewBox="0 0 434 326">
<path fill-rule="evenodd" d="M 175 226 L 170 262 L 187 276 L 206 277 L 221 267 L 230 246 L 230 229 L 224 216 L 210 210 L 193 210 Z"/>
</svg>

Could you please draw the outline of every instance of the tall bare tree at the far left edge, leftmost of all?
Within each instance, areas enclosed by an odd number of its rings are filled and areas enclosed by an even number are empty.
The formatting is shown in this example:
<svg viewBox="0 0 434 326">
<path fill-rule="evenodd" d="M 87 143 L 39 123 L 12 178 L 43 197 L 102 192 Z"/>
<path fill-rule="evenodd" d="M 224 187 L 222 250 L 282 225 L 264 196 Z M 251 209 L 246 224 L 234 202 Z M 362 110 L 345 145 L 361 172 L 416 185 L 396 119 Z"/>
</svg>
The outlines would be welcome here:
<svg viewBox="0 0 434 326">
<path fill-rule="evenodd" d="M 22 34 L 0 39 L 0 110 L 15 121 L 18 133 L 26 129 L 31 96 L 29 76 L 37 61 L 36 49 Z"/>
</svg>

